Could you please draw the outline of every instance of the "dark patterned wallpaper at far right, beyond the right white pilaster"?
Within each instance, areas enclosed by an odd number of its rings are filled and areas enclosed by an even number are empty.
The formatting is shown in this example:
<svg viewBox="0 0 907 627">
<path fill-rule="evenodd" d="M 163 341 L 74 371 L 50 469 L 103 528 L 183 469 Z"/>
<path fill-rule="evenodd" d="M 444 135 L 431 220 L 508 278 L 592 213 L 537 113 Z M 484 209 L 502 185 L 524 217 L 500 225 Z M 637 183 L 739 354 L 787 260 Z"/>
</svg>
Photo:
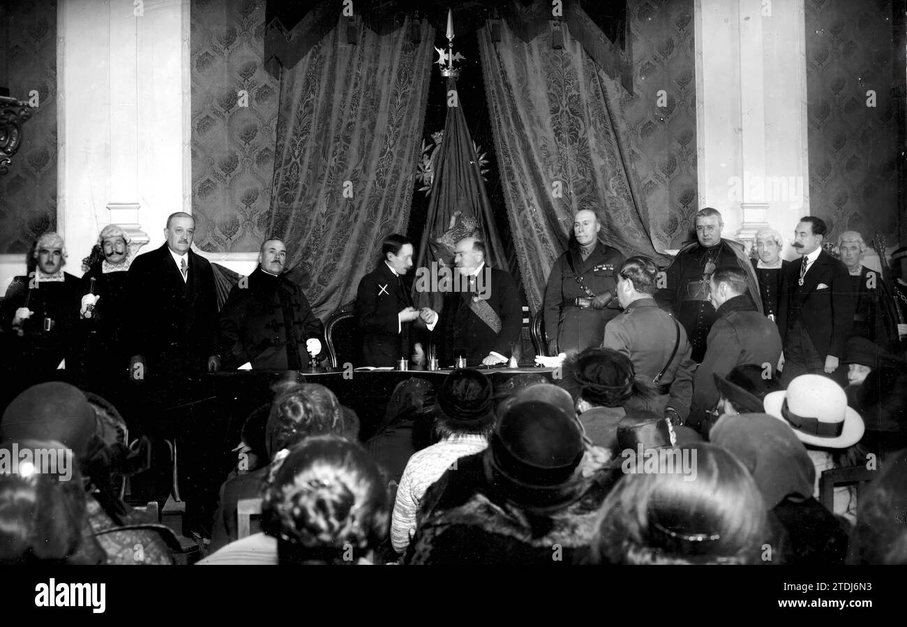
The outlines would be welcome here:
<svg viewBox="0 0 907 627">
<path fill-rule="evenodd" d="M 880 232 L 893 244 L 904 121 L 891 90 L 904 86 L 904 55 L 895 59 L 892 1 L 806 0 L 805 9 L 811 212 L 834 238 Z"/>
</svg>

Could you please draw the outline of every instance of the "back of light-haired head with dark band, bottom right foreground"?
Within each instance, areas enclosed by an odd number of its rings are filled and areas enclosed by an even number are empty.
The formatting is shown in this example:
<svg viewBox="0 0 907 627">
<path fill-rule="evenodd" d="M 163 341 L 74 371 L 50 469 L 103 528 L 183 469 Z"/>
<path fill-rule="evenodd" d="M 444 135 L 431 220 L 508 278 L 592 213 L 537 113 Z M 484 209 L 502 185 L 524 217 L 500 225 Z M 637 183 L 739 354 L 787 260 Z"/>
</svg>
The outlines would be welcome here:
<svg viewBox="0 0 907 627">
<path fill-rule="evenodd" d="M 707 443 L 684 449 L 695 474 L 624 475 L 601 507 L 593 561 L 756 563 L 766 539 L 762 496 L 746 468 Z"/>
</svg>

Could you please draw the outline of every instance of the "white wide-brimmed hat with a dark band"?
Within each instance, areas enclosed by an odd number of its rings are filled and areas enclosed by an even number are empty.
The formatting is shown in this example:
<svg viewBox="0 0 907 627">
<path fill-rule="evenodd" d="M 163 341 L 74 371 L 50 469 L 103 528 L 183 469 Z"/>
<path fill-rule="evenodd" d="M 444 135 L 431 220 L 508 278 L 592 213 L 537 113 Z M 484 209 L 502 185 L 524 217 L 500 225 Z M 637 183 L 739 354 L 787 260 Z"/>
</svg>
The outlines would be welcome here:
<svg viewBox="0 0 907 627">
<path fill-rule="evenodd" d="M 844 389 L 821 375 L 796 377 L 786 390 L 767 394 L 763 405 L 766 414 L 785 421 L 811 446 L 847 448 L 865 431 L 863 418 L 847 406 Z"/>
</svg>

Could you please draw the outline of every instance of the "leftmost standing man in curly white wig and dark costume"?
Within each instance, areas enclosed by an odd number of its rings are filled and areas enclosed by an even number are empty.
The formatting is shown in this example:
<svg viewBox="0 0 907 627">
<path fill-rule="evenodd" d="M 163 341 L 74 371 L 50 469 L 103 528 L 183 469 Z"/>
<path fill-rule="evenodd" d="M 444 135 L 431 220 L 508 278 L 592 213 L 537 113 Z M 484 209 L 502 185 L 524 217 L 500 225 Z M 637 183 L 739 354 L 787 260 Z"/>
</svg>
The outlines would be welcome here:
<svg viewBox="0 0 907 627">
<path fill-rule="evenodd" d="M 34 271 L 16 277 L 6 290 L 0 321 L 5 367 L 20 373 L 53 370 L 70 357 L 79 316 L 81 281 L 63 271 L 63 238 L 44 233 L 32 257 Z"/>
</svg>

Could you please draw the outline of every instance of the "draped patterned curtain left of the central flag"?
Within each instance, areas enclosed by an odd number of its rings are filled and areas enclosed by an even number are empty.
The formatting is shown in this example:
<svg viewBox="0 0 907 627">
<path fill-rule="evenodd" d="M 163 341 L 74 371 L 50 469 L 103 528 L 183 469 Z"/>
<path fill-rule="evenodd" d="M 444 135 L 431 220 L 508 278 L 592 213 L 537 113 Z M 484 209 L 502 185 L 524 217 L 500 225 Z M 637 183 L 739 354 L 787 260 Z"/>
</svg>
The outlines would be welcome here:
<svg viewBox="0 0 907 627">
<path fill-rule="evenodd" d="M 268 237 L 308 277 L 320 318 L 356 298 L 381 238 L 406 232 L 414 190 L 434 28 L 410 18 L 379 35 L 346 18 L 281 76 Z"/>
</svg>

